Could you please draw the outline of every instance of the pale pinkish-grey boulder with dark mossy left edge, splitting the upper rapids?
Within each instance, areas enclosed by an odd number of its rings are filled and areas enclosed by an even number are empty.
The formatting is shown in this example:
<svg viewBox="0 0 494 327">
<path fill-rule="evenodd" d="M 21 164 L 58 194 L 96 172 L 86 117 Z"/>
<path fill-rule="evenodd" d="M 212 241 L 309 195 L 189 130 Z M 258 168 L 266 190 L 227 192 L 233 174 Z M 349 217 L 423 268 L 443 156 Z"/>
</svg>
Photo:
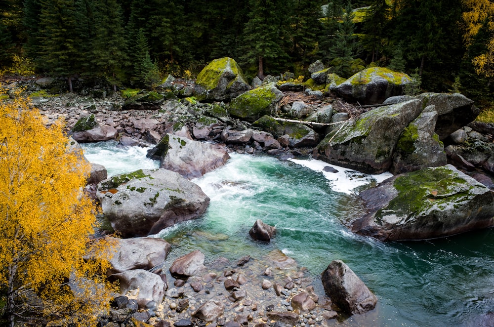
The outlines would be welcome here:
<svg viewBox="0 0 494 327">
<path fill-rule="evenodd" d="M 156 147 L 162 149 L 158 152 L 160 167 L 178 172 L 187 179 L 201 177 L 230 159 L 221 145 L 193 141 L 173 134 L 166 134 Z"/>
</svg>

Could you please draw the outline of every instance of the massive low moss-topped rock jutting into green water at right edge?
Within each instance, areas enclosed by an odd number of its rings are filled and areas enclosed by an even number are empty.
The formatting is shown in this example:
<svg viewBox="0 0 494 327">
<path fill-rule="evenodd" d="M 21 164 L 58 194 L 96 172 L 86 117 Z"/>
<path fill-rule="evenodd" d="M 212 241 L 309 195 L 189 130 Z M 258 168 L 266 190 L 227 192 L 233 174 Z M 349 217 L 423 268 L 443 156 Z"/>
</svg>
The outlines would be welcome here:
<svg viewBox="0 0 494 327">
<path fill-rule="evenodd" d="M 424 240 L 494 225 L 493 193 L 453 165 L 393 176 L 361 192 L 369 213 L 350 222 L 381 241 Z"/>
</svg>

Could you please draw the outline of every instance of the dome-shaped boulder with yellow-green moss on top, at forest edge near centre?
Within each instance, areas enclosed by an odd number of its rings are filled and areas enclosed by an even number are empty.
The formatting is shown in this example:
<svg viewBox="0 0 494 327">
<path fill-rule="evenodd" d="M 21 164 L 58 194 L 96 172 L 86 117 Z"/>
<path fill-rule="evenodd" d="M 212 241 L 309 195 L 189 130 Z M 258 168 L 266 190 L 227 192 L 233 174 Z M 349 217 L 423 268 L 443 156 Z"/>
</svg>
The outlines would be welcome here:
<svg viewBox="0 0 494 327">
<path fill-rule="evenodd" d="M 199 101 L 230 101 L 249 89 L 237 62 L 225 57 L 211 61 L 199 73 L 194 96 Z"/>
</svg>

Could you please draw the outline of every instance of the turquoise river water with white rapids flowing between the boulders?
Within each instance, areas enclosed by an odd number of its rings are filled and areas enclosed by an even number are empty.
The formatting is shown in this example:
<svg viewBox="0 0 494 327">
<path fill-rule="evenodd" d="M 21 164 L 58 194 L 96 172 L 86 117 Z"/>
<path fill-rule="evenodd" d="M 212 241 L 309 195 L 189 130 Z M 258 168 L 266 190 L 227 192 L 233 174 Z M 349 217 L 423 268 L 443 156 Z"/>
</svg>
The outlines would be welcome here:
<svg viewBox="0 0 494 327">
<path fill-rule="evenodd" d="M 111 154 L 96 159 L 103 165 L 116 160 Z M 312 166 L 316 163 L 304 164 L 319 169 Z M 342 221 L 362 212 L 347 192 L 354 184 L 345 184 L 362 175 L 348 173 L 345 181 L 331 181 L 313 169 L 233 154 L 225 166 L 193 180 L 211 198 L 205 216 L 158 236 L 172 244 L 171 257 L 199 248 L 208 261 L 246 254 L 262 258 L 280 249 L 315 279 L 331 260 L 341 259 L 379 299 L 375 310 L 344 325 L 478 326 L 479 317 L 494 309 L 493 229 L 420 242 L 381 243 L 360 237 L 349 233 Z M 248 236 L 256 219 L 276 225 L 270 244 Z"/>
</svg>

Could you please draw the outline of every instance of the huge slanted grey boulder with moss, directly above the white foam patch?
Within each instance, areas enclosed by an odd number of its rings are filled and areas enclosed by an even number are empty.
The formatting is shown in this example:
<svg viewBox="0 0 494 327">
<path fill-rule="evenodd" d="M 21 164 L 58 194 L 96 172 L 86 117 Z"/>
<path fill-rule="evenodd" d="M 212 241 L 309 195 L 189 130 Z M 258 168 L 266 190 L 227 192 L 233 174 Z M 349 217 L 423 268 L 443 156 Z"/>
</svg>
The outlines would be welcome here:
<svg viewBox="0 0 494 327">
<path fill-rule="evenodd" d="M 387 171 L 400 134 L 421 111 L 419 100 L 378 107 L 331 130 L 318 144 L 316 156 L 366 173 Z"/>
</svg>

